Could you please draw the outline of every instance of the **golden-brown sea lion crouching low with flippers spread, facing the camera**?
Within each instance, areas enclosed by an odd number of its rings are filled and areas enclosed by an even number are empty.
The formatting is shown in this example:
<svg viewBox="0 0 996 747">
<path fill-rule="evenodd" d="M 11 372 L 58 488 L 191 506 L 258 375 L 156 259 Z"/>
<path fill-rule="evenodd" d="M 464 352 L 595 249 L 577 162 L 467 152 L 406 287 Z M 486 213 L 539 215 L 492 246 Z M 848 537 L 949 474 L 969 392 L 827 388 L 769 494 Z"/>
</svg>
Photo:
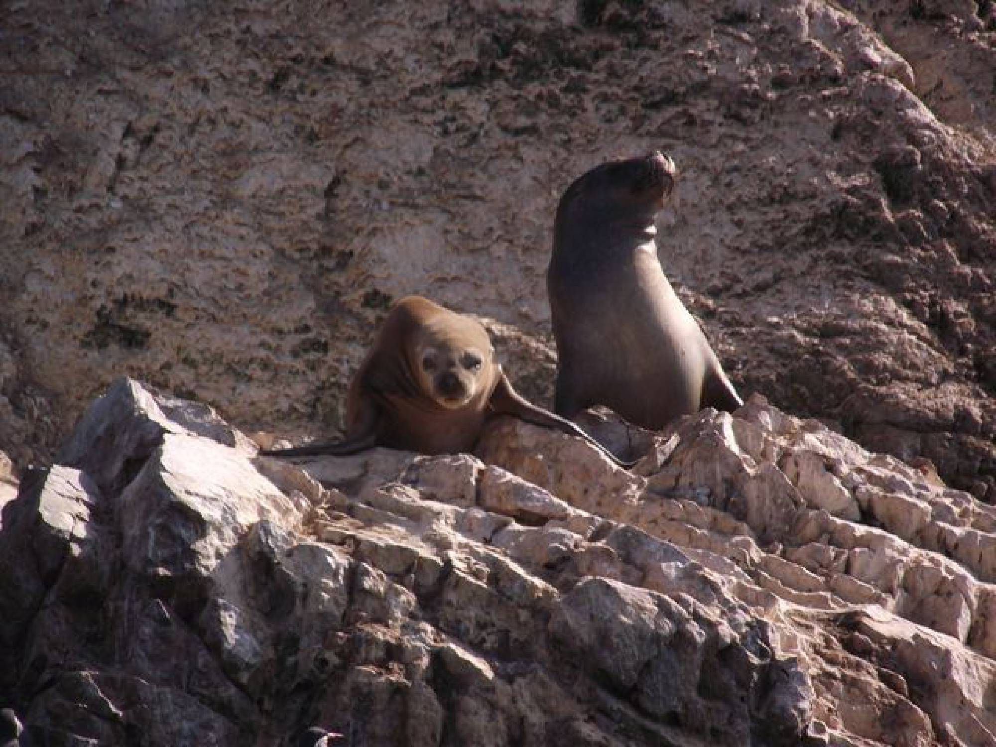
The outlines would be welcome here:
<svg viewBox="0 0 996 747">
<path fill-rule="evenodd" d="M 346 439 L 268 456 L 343 456 L 387 446 L 423 454 L 470 451 L 496 415 L 584 438 L 621 466 L 580 427 L 520 396 L 494 360 L 487 331 L 470 317 L 420 296 L 391 307 L 350 383 Z"/>
</svg>

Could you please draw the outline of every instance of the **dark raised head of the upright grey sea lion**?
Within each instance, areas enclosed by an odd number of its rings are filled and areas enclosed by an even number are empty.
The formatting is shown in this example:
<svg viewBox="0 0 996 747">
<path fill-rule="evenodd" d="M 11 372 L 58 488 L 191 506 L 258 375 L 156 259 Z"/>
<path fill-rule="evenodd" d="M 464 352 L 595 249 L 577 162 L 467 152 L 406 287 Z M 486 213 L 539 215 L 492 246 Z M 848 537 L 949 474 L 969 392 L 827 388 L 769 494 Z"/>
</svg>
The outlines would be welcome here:
<svg viewBox="0 0 996 747">
<path fill-rule="evenodd" d="M 652 226 L 674 188 L 677 167 L 656 150 L 637 158 L 613 160 L 575 179 L 557 207 L 557 225 L 633 224 Z"/>
</svg>

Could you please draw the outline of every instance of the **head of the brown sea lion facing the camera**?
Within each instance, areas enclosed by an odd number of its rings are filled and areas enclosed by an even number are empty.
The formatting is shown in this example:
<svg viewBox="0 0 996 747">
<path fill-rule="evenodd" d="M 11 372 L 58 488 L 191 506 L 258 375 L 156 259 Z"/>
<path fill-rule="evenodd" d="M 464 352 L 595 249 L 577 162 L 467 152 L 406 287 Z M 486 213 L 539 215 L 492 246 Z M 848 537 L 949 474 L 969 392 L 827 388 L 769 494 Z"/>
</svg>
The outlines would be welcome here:
<svg viewBox="0 0 996 747">
<path fill-rule="evenodd" d="M 425 324 L 412 341 L 409 361 L 422 390 L 446 409 L 486 398 L 494 387 L 491 340 L 467 317 L 450 314 Z"/>
</svg>

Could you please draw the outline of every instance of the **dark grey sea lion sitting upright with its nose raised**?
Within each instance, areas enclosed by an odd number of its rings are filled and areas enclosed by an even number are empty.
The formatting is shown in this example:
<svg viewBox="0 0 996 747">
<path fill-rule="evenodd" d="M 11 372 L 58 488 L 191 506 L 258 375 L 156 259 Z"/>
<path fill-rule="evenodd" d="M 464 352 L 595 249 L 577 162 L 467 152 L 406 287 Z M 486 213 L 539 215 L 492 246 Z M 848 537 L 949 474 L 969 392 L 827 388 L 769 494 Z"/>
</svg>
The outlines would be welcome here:
<svg viewBox="0 0 996 747">
<path fill-rule="evenodd" d="M 743 404 L 657 258 L 653 219 L 676 175 L 653 152 L 593 168 L 561 197 L 547 291 L 562 417 L 604 404 L 660 429 L 700 407 Z"/>
</svg>

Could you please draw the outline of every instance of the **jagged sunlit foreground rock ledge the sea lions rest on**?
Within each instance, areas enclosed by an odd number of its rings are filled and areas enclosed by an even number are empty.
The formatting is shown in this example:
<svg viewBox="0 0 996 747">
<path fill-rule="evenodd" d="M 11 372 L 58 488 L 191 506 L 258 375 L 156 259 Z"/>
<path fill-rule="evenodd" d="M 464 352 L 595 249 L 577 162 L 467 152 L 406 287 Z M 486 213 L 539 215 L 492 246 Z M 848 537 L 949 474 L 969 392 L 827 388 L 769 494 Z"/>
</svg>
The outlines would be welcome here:
<svg viewBox="0 0 996 747">
<path fill-rule="evenodd" d="M 122 379 L 3 507 L 0 706 L 32 744 L 996 742 L 996 510 L 757 396 L 650 442 L 299 468 Z"/>
</svg>

